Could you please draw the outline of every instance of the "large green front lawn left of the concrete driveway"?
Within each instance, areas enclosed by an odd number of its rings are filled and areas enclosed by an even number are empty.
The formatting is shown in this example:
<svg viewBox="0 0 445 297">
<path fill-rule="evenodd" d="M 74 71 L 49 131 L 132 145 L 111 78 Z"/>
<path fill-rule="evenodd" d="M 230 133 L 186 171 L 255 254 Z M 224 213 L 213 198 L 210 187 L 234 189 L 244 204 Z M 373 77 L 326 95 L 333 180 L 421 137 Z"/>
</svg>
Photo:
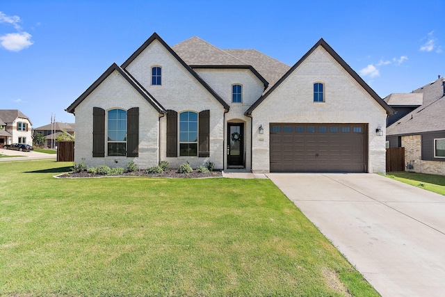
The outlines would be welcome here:
<svg viewBox="0 0 445 297">
<path fill-rule="evenodd" d="M 0 296 L 379 296 L 268 179 L 0 163 Z"/>
</svg>

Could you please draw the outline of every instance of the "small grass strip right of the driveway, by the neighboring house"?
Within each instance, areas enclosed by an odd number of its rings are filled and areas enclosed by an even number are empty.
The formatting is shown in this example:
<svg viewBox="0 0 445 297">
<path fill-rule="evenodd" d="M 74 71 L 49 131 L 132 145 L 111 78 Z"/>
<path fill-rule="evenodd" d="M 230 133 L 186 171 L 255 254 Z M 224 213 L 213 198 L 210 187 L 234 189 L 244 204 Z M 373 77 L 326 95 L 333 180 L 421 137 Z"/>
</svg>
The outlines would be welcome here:
<svg viewBox="0 0 445 297">
<path fill-rule="evenodd" d="M 426 173 L 417 172 L 387 172 L 387 177 L 411 184 L 419 188 L 424 188 L 441 195 L 445 195 L 445 176 L 444 175 L 428 175 Z"/>
</svg>

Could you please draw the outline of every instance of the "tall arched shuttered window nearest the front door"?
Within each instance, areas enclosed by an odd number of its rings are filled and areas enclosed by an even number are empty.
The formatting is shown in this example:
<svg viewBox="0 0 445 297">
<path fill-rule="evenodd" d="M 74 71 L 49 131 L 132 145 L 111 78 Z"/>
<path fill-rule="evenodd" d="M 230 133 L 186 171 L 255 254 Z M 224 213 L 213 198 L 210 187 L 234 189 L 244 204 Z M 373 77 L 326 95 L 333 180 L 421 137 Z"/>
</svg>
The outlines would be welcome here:
<svg viewBox="0 0 445 297">
<path fill-rule="evenodd" d="M 179 114 L 179 156 L 197 156 L 197 113 Z"/>
</svg>

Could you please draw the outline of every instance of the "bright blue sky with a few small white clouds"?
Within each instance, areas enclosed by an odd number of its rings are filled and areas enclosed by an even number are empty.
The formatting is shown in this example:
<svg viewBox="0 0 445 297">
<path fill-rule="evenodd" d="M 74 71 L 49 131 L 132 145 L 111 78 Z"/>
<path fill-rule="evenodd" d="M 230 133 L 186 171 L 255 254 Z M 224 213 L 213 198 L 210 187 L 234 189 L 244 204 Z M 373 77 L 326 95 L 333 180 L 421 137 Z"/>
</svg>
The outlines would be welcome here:
<svg viewBox="0 0 445 297">
<path fill-rule="evenodd" d="M 198 36 L 295 64 L 320 38 L 386 97 L 445 76 L 445 1 L 20 1 L 0 3 L 0 109 L 33 127 L 65 109 L 152 33 Z"/>
</svg>

